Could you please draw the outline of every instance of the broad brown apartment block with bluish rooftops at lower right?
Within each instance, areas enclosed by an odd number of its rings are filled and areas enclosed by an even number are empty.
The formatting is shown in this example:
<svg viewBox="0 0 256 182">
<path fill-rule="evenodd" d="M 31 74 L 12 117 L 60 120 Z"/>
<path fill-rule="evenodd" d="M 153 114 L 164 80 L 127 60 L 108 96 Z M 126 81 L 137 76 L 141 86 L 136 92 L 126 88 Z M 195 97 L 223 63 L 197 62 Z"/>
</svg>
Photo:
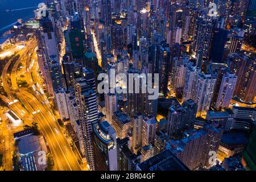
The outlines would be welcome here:
<svg viewBox="0 0 256 182">
<path fill-rule="evenodd" d="M 221 127 L 205 125 L 203 129 L 185 131 L 184 138 L 167 142 L 166 148 L 191 170 L 209 167 L 209 152 L 217 152 L 222 134 Z"/>
</svg>

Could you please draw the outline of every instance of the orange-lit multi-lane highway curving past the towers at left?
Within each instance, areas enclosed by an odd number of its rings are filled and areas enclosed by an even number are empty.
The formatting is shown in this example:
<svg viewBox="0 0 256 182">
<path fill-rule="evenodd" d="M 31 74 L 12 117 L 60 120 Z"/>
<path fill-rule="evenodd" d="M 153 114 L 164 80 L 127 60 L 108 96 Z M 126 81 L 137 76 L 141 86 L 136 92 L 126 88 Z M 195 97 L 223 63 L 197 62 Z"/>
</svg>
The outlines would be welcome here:
<svg viewBox="0 0 256 182">
<path fill-rule="evenodd" d="M 30 60 L 32 57 L 32 53 L 34 53 L 34 48 L 36 45 L 35 43 L 36 42 L 31 43 L 30 46 L 25 48 L 26 50 L 28 50 L 28 52 L 23 54 L 22 56 L 26 57 L 27 60 Z M 43 104 L 40 102 L 40 99 L 38 100 L 38 98 L 36 98 L 32 94 L 18 87 L 16 83 L 16 69 L 18 69 L 18 65 L 20 61 L 21 59 L 17 60 L 14 65 L 14 68 L 11 74 L 11 83 L 13 85 L 13 89 L 15 90 L 16 96 L 23 103 L 23 105 L 26 107 L 26 109 L 29 111 L 30 114 L 32 114 L 34 111 L 40 110 L 38 113 L 34 114 L 34 119 L 38 122 L 40 129 L 42 129 L 44 137 L 46 137 L 47 143 L 49 144 L 49 147 L 52 151 L 52 156 L 53 156 L 53 160 L 55 161 L 56 169 L 67 170 L 67 171 L 81 170 L 80 165 L 77 162 L 77 159 L 75 157 L 75 154 L 72 151 L 72 148 L 69 146 L 67 139 L 62 133 L 60 126 L 57 124 L 52 113 L 44 108 Z M 7 64 L 6 67 L 4 68 L 6 69 L 6 72 L 10 63 Z M 33 82 L 31 78 L 31 73 L 29 71 L 29 67 L 27 67 L 27 65 L 25 69 L 27 71 L 27 76 L 29 76 L 28 80 L 31 79 L 30 81 Z M 9 98 L 14 98 L 11 96 L 11 91 L 7 84 L 6 72 L 5 74 L 3 74 L 3 76 L 5 76 L 5 80 L 3 80 L 5 81 L 3 83 L 3 86 Z M 28 81 L 28 84 L 31 84 L 30 81 Z"/>
</svg>

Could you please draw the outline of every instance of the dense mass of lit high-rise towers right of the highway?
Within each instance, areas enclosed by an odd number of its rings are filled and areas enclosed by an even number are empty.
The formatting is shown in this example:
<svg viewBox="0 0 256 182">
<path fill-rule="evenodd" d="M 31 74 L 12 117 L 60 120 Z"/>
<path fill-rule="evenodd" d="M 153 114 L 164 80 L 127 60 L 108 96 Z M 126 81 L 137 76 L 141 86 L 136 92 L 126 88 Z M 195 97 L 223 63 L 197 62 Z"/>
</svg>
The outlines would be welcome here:
<svg viewBox="0 0 256 182">
<path fill-rule="evenodd" d="M 224 132 L 253 128 L 255 108 L 231 102 L 255 101 L 255 53 L 242 51 L 256 34 L 255 3 L 213 3 L 212 12 L 211 1 L 47 0 L 40 71 L 91 170 L 209 168 Z M 158 73 L 159 98 L 98 93 L 98 74 L 112 69 Z M 243 158 L 251 168 L 252 151 Z"/>
</svg>

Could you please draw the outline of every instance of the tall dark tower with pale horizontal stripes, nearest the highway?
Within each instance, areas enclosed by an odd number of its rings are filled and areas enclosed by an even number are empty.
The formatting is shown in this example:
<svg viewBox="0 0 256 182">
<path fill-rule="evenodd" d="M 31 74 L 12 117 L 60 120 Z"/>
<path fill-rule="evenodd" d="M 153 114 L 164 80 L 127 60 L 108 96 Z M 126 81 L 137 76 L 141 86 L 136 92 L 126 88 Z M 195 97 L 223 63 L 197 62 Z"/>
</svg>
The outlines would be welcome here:
<svg viewBox="0 0 256 182">
<path fill-rule="evenodd" d="M 91 170 L 95 170 L 94 152 L 92 146 L 92 125 L 99 120 L 96 86 L 92 69 L 82 68 L 84 77 L 73 81 L 76 94 L 76 104 L 79 108 L 79 122 L 82 130 L 82 154 L 86 156 L 87 163 Z"/>
</svg>

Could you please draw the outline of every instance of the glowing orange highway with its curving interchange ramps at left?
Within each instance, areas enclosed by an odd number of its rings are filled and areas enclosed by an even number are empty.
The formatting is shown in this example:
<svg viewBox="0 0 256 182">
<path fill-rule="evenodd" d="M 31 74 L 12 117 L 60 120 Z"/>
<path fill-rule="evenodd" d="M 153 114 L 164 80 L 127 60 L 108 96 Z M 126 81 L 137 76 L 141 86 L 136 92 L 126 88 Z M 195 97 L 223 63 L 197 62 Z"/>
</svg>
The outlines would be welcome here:
<svg viewBox="0 0 256 182">
<path fill-rule="evenodd" d="M 28 87 L 32 88 L 35 85 L 33 78 L 31 77 L 32 68 L 30 67 L 31 59 L 36 59 L 36 42 L 35 39 L 28 43 L 28 46 L 24 47 L 20 53 L 20 59 L 16 61 L 11 71 L 11 86 L 7 83 L 7 69 L 11 63 L 7 63 L 3 70 L 3 87 L 7 96 L 1 96 L 6 102 L 14 100 L 16 97 L 22 103 L 16 102 L 11 105 L 15 113 L 22 113 L 21 110 L 26 110 L 26 113 L 18 114 L 20 118 L 26 121 L 26 115 L 32 115 L 32 118 L 38 122 L 40 130 L 47 140 L 48 146 L 51 150 L 53 160 L 55 162 L 56 170 L 81 170 L 79 162 L 77 162 L 76 156 L 72 151 L 71 146 L 65 138 L 59 124 L 56 121 L 54 114 L 52 113 L 49 106 L 46 104 L 44 96 L 42 96 L 38 90 L 34 90 L 34 93 L 29 93 L 29 89 L 20 88 L 17 84 L 17 75 L 22 73 L 17 71 L 19 63 L 26 60 L 24 69 L 26 72 L 26 81 Z M 12 90 L 10 89 L 12 88 Z M 15 94 L 14 94 L 15 93 Z"/>
</svg>

